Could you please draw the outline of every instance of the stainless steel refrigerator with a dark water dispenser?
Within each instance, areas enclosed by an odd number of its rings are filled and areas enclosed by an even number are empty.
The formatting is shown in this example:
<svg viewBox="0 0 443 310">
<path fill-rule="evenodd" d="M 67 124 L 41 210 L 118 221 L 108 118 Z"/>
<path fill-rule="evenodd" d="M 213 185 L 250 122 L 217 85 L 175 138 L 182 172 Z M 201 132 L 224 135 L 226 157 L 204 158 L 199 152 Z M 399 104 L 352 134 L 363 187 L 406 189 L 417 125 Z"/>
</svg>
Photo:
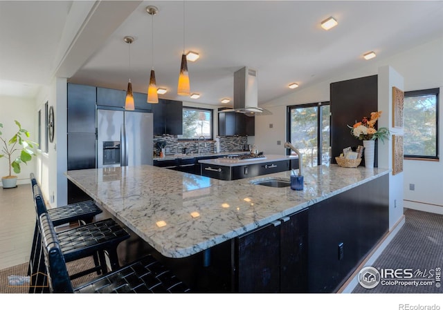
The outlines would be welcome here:
<svg viewBox="0 0 443 310">
<path fill-rule="evenodd" d="M 152 165 L 152 113 L 97 110 L 97 167 Z"/>
</svg>

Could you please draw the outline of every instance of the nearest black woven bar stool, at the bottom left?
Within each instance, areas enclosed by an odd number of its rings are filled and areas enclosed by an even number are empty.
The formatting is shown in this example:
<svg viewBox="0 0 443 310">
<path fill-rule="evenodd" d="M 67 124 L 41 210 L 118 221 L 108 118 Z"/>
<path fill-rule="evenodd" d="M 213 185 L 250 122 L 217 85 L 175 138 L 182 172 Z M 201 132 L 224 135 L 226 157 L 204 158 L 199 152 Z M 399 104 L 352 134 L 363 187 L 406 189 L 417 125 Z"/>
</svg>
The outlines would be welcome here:
<svg viewBox="0 0 443 310">
<path fill-rule="evenodd" d="M 163 264 L 147 255 L 120 269 L 73 288 L 51 217 L 39 217 L 42 248 L 51 293 L 188 293 L 190 289 Z"/>
</svg>

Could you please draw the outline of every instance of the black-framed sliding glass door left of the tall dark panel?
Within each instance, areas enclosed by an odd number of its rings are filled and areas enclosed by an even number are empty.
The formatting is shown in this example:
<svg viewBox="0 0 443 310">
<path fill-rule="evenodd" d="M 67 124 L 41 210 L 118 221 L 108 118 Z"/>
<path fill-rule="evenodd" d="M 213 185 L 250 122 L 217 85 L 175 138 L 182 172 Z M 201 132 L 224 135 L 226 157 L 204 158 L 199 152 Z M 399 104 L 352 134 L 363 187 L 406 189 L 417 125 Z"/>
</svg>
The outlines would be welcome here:
<svg viewBox="0 0 443 310">
<path fill-rule="evenodd" d="M 303 166 L 329 165 L 329 102 L 288 107 L 288 138 L 302 153 Z"/>
</svg>

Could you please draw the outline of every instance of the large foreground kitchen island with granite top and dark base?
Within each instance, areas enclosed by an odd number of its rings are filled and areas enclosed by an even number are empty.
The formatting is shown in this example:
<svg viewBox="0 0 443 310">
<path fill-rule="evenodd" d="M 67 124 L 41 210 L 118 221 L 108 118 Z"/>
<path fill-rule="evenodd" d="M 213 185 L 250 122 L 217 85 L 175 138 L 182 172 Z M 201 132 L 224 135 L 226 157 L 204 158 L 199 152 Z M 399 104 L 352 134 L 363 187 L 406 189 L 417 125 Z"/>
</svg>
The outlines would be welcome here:
<svg viewBox="0 0 443 310">
<path fill-rule="evenodd" d="M 308 209 L 309 212 L 313 210 L 313 216 L 309 213 L 309 244 L 312 243 L 309 246 L 309 262 L 312 260 L 316 264 L 323 264 L 321 258 L 329 255 L 329 247 L 336 260 L 338 244 L 335 244 L 335 240 L 330 241 L 331 233 L 325 231 L 325 228 L 343 231 L 343 218 L 347 222 L 368 222 L 370 225 L 371 231 L 365 231 L 361 227 L 369 236 L 364 237 L 369 240 L 363 242 L 369 246 L 365 246 L 365 253 L 387 231 L 388 170 L 341 168 L 336 165 L 305 168 L 303 191 L 292 191 L 289 187 L 271 188 L 251 182 L 271 177 L 289 180 L 290 173 L 285 171 L 223 181 L 155 166 L 127 166 L 68 171 L 66 175 L 73 184 L 165 258 L 180 259 L 208 253 L 209 249 L 217 249 L 217 246 L 226 242 L 227 249 L 233 249 L 242 236 L 251 235 L 269 225 L 277 225 L 281 219 Z M 359 203 L 358 206 L 356 202 Z M 367 209 L 367 212 L 362 213 L 362 208 Z M 350 210 L 349 214 L 346 213 L 347 209 Z M 327 212 L 322 213 L 323 211 Z M 364 215 L 363 219 L 350 218 L 356 211 L 359 214 L 357 216 Z M 374 217 L 370 219 L 368 214 L 373 214 Z M 380 220 L 381 217 L 383 218 Z M 377 228 L 377 225 L 381 227 Z M 341 227 L 337 229 L 337 226 Z M 329 240 L 324 245 L 321 240 L 317 240 L 323 234 L 327 234 Z M 359 238 L 354 231 L 347 231 L 345 234 Z M 334 244 L 329 246 L 331 242 Z M 361 244 L 356 244 L 356 247 L 360 248 Z M 345 244 L 345 253 L 347 251 L 350 252 L 350 247 Z M 233 250 L 228 253 L 228 257 L 233 258 L 236 261 L 234 264 L 237 264 L 242 253 L 244 252 Z M 352 266 L 360 260 L 360 257 L 353 259 Z M 324 261 L 324 264 L 327 262 Z M 236 274 L 231 276 L 234 280 L 229 284 L 228 290 L 242 291 L 238 289 L 242 286 L 239 280 L 247 278 L 247 273 L 240 275 L 238 265 L 231 267 L 230 270 Z M 320 267 L 314 264 L 308 269 L 310 271 Z M 327 265 L 325 267 L 329 268 Z M 325 291 L 334 291 L 336 285 L 337 282 L 334 282 L 326 286 Z M 320 287 L 325 285 L 309 283 L 307 291 L 323 291 Z M 243 291 L 248 290 L 246 286 Z"/>
</svg>

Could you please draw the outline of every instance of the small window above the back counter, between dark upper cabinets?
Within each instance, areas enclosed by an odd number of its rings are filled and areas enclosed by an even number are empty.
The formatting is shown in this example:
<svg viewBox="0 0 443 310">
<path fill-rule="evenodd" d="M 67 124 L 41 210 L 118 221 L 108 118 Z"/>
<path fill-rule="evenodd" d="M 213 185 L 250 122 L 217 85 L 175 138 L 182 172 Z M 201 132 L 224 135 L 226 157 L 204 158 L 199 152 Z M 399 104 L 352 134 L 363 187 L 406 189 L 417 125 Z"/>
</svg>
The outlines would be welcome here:
<svg viewBox="0 0 443 310">
<path fill-rule="evenodd" d="M 213 139 L 213 110 L 183 107 L 183 135 L 179 139 Z"/>
</svg>

